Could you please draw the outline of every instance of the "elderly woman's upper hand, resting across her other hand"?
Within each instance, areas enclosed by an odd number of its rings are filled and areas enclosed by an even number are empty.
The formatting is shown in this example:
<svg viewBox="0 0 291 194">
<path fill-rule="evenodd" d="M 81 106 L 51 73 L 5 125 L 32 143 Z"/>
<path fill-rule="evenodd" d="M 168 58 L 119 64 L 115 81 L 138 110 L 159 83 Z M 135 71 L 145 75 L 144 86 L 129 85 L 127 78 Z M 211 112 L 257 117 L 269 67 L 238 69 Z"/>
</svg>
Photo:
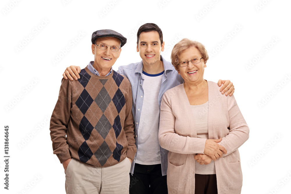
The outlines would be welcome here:
<svg viewBox="0 0 291 194">
<path fill-rule="evenodd" d="M 219 157 L 222 157 L 223 153 L 226 154 L 226 149 L 222 145 L 218 144 L 220 141 L 221 138 L 207 139 L 205 142 L 204 154 L 210 156 L 214 161 L 216 161 Z"/>
</svg>

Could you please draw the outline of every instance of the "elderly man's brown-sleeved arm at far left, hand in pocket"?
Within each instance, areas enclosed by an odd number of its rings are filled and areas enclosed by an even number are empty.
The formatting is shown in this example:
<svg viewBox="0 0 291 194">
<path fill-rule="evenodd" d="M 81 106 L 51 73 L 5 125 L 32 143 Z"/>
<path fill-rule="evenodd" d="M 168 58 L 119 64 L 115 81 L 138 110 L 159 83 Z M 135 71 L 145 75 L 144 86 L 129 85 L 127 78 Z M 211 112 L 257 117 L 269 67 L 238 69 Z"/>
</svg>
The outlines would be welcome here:
<svg viewBox="0 0 291 194">
<path fill-rule="evenodd" d="M 56 106 L 52 113 L 49 127 L 54 150 L 53 153 L 58 156 L 58 159 L 63 164 L 65 170 L 72 159 L 66 138 L 68 122 L 70 119 L 71 89 L 70 81 L 62 79 L 58 101 L 56 102 Z"/>
</svg>

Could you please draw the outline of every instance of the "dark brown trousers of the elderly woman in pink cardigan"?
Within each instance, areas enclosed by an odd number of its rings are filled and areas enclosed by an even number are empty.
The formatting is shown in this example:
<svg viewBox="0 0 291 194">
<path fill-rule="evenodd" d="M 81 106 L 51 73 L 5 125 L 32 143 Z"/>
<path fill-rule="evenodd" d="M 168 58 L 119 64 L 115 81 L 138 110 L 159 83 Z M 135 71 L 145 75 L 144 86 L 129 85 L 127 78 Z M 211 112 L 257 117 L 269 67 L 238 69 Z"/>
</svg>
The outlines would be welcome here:
<svg viewBox="0 0 291 194">
<path fill-rule="evenodd" d="M 195 194 L 217 194 L 216 175 L 195 174 Z"/>
</svg>

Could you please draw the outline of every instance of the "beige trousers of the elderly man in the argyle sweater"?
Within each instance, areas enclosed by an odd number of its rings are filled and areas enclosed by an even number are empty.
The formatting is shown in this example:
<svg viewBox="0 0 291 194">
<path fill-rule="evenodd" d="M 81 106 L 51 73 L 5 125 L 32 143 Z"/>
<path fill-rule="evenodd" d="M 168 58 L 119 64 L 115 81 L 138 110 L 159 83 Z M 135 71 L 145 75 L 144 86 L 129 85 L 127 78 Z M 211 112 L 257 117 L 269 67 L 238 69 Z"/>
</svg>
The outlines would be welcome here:
<svg viewBox="0 0 291 194">
<path fill-rule="evenodd" d="M 93 167 L 72 159 L 66 169 L 67 194 L 128 194 L 131 163 L 125 158 L 109 167 Z"/>
</svg>

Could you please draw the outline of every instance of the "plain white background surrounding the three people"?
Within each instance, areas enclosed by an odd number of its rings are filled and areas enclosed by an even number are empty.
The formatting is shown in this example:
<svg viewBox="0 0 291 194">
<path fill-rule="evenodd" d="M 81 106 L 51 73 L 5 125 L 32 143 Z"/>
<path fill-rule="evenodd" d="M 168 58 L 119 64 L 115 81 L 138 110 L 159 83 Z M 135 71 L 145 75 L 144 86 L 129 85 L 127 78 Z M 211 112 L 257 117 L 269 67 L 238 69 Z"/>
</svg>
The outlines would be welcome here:
<svg viewBox="0 0 291 194">
<path fill-rule="evenodd" d="M 162 55 L 168 61 L 181 38 L 198 40 L 213 54 L 204 78 L 234 83 L 250 128 L 249 140 L 239 148 L 242 193 L 290 193 L 290 1 L 14 1 L 0 5 L 1 193 L 65 193 L 64 169 L 52 153 L 46 119 L 58 98 L 62 74 L 67 66 L 84 68 L 93 60 L 91 34 L 99 29 L 128 38 L 114 70 L 139 62 L 136 32 L 148 22 L 162 29 Z M 82 38 L 80 32 L 85 33 Z M 70 50 L 62 54 L 66 47 Z M 254 63 L 247 68 L 250 60 Z M 5 125 L 9 191 L 3 188 Z"/>
</svg>

